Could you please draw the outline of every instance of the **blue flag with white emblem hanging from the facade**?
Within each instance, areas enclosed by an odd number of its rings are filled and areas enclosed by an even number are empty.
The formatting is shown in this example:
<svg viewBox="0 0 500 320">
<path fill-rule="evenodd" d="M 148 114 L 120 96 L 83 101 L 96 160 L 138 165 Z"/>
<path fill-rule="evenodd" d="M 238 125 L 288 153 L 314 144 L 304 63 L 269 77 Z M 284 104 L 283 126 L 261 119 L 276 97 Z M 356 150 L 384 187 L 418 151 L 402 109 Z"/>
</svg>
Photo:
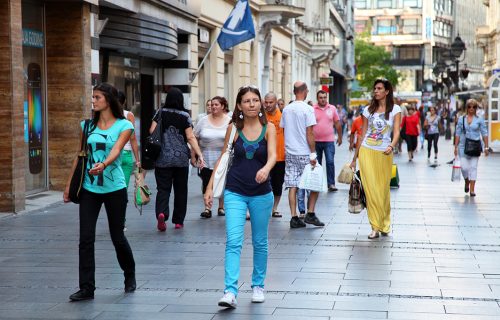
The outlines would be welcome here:
<svg viewBox="0 0 500 320">
<path fill-rule="evenodd" d="M 255 29 L 250 5 L 248 0 L 239 0 L 224 23 L 217 42 L 220 48 L 226 51 L 253 38 L 255 38 Z"/>
</svg>

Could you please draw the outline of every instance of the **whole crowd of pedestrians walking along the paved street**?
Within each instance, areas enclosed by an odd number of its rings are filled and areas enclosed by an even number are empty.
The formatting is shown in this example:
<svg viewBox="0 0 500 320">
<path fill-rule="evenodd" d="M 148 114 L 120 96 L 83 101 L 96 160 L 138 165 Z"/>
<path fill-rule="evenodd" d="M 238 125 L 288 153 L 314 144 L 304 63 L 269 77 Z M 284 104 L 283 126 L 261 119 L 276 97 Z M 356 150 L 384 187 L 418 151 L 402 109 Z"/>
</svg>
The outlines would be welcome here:
<svg viewBox="0 0 500 320">
<path fill-rule="evenodd" d="M 216 207 L 217 215 L 225 217 L 226 226 L 224 295 L 219 306 L 237 306 L 246 220 L 251 223 L 254 252 L 252 302 L 264 302 L 268 225 L 271 218 L 283 217 L 278 210 L 283 188 L 288 191 L 290 228 L 303 228 L 307 224 L 325 226 L 315 209 L 319 192 L 299 189 L 299 181 L 306 165 L 324 165 L 327 190 L 338 191 L 335 144 L 342 144 L 346 129 L 350 136 L 349 150 L 354 151 L 350 166 L 354 171 L 359 169 L 366 195 L 371 225 L 368 238 L 389 235 L 390 180 L 393 154 L 401 147 L 400 136 L 406 141 L 409 161 L 413 160 L 421 135 L 428 142 L 429 161 L 432 148 L 437 161 L 442 117 L 434 106 L 423 119 L 415 106 L 400 106 L 386 79 L 377 79 L 372 90 L 370 103 L 354 111 L 329 104 L 328 93 L 323 90 L 315 93 L 316 103 L 307 101 L 309 89 L 303 81 L 293 84 L 295 97 L 287 105 L 273 92 L 262 98 L 257 87 L 244 86 L 237 92 L 233 112 L 226 98 L 215 96 L 206 101 L 205 112 L 198 115 L 196 124 L 185 108 L 182 92 L 175 87 L 168 90 L 149 129 L 153 133 L 157 126 L 161 128 L 161 151 L 154 161 L 158 231 L 166 231 L 170 214 L 175 229 L 184 227 L 189 165 L 198 168 L 202 180 L 204 210 L 200 216 L 212 217 L 214 172 L 220 165 L 221 155 L 227 150 L 232 154 L 225 189 Z M 89 128 L 85 146 L 89 160 L 79 204 L 80 290 L 70 296 L 72 301 L 94 297 L 94 242 L 102 204 L 124 273 L 125 292 L 136 289 L 135 261 L 124 231 L 128 181 L 134 166 L 140 168 L 141 162 L 134 115 L 124 110 L 125 106 L 123 94 L 110 84 L 100 84 L 93 92 L 93 118 L 81 123 L 82 136 L 87 126 Z M 486 127 L 484 119 L 477 116 L 477 108 L 477 101 L 467 101 L 467 112 L 455 120 L 455 155 L 461 160 L 464 189 L 470 196 L 475 196 L 478 157 L 466 152 L 467 141 L 482 138 L 484 152 L 488 154 Z M 75 166 L 76 161 L 73 170 Z M 69 201 L 69 185 L 70 179 L 64 193 L 65 202 Z M 174 200 L 170 208 L 172 188 Z"/>
</svg>

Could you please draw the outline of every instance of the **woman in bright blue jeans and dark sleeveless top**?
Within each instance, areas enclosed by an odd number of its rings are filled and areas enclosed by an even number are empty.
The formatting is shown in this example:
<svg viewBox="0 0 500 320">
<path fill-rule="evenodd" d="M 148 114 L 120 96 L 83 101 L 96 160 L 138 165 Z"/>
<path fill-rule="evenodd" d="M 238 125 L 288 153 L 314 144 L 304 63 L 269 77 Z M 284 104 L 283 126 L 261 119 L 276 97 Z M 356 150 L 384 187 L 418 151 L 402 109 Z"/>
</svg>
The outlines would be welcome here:
<svg viewBox="0 0 500 320">
<path fill-rule="evenodd" d="M 252 302 L 264 302 L 264 279 L 267 270 L 268 225 L 273 209 L 269 172 L 276 163 L 276 129 L 268 126 L 260 92 L 256 87 L 240 88 L 236 97 L 233 125 L 226 132 L 227 149 L 231 130 L 237 129 L 234 157 L 227 173 L 224 191 L 226 208 L 225 289 L 219 306 L 236 308 L 240 255 L 245 234 L 247 210 L 250 211 L 253 245 Z M 220 159 L 219 159 L 220 161 Z M 215 165 L 217 171 L 219 161 Z M 205 193 L 205 205 L 212 206 L 213 175 Z"/>
</svg>

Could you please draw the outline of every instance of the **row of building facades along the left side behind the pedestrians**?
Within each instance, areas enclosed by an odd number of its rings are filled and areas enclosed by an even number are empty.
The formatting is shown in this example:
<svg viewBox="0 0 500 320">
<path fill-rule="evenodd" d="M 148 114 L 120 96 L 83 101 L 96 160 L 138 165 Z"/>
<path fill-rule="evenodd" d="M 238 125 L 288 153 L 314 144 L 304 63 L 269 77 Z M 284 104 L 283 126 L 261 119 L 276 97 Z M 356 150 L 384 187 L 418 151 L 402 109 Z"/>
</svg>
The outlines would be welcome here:
<svg viewBox="0 0 500 320">
<path fill-rule="evenodd" d="M 288 102 L 293 81 L 314 93 L 319 77 L 331 76 L 330 101 L 345 101 L 354 59 L 351 0 L 250 0 L 255 38 L 223 52 L 215 40 L 236 2 L 1 1 L 0 212 L 22 211 L 27 195 L 64 189 L 78 124 L 91 116 L 99 82 L 125 93 L 140 142 L 170 86 L 183 91 L 195 120 L 216 95 L 232 110 L 248 84 Z"/>
</svg>

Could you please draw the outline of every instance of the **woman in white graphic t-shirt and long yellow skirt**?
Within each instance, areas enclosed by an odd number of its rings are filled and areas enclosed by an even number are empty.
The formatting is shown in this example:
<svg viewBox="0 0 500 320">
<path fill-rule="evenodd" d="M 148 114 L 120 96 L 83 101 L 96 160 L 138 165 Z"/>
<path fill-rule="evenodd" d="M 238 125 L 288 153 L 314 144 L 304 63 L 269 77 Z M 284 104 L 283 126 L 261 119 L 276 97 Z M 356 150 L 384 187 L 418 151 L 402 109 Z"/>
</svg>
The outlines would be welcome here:
<svg viewBox="0 0 500 320">
<path fill-rule="evenodd" d="M 366 194 L 372 232 L 368 239 L 389 235 L 391 228 L 390 181 L 393 150 L 399 140 L 401 108 L 394 104 L 393 89 L 387 79 L 373 84 L 373 98 L 363 110 L 363 140 L 356 148 L 351 167 L 359 158 L 361 183 Z"/>
</svg>

